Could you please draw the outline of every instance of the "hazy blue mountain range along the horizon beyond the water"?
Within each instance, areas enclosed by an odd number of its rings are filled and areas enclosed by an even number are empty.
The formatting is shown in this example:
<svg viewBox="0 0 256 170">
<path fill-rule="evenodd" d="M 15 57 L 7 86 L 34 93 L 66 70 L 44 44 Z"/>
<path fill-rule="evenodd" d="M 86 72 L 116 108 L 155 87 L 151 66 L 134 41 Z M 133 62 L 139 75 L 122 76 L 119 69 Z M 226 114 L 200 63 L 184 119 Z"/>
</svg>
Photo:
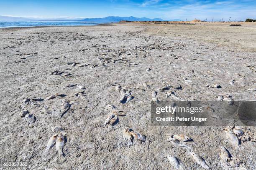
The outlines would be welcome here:
<svg viewBox="0 0 256 170">
<path fill-rule="evenodd" d="M 181 21 L 179 19 L 172 19 L 172 20 L 163 20 L 161 18 L 136 18 L 136 17 L 105 17 L 105 18 L 84 18 L 80 20 L 79 18 L 54 18 L 54 19 L 43 19 L 43 18 L 25 18 L 25 17 L 10 17 L 10 16 L 0 16 L 0 20 L 47 20 L 47 21 L 84 21 L 84 22 L 105 22 L 105 23 L 116 23 L 122 20 L 127 21 Z"/>
</svg>

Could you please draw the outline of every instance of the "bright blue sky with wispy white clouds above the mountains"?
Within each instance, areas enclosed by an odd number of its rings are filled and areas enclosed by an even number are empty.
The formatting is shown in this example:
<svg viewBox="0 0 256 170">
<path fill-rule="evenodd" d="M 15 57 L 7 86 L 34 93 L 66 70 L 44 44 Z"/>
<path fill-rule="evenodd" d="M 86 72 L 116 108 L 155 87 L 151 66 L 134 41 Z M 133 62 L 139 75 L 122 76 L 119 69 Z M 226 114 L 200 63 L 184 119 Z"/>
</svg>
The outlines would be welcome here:
<svg viewBox="0 0 256 170">
<path fill-rule="evenodd" d="M 256 19 L 256 0 L 0 0 L 0 15 L 34 18 L 134 16 L 162 19 Z"/>
</svg>

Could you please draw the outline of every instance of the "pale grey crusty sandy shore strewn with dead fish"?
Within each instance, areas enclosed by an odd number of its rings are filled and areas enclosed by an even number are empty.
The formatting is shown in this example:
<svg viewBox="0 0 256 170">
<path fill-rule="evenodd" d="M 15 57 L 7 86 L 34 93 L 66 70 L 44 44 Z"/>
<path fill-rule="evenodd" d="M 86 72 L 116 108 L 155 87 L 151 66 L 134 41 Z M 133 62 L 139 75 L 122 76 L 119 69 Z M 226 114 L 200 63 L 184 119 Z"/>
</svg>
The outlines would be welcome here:
<svg viewBox="0 0 256 170">
<path fill-rule="evenodd" d="M 187 169 L 201 169 L 187 150 L 166 141 L 166 134 L 184 134 L 198 144 L 193 146 L 194 152 L 212 169 L 223 169 L 218 152 L 224 146 L 243 161 L 244 168 L 253 170 L 256 143 L 252 140 L 234 148 L 220 131 L 223 127 L 152 126 L 150 102 L 151 92 L 165 83 L 182 86 L 182 90 L 173 89 L 180 100 L 211 101 L 220 94 L 233 100 L 255 100 L 255 91 L 248 91 L 256 88 L 255 40 L 256 23 L 239 27 L 227 23 L 122 23 L 0 29 L 1 161 L 28 162 L 27 169 L 167 170 L 173 168 L 165 157 L 172 154 Z M 63 73 L 51 74 L 55 70 Z M 85 89 L 67 87 L 70 84 Z M 134 99 L 120 103 L 115 85 L 130 87 Z M 81 91 L 84 94 L 75 95 Z M 55 93 L 64 95 L 24 101 Z M 157 97 L 166 100 L 164 92 L 158 91 Z M 64 99 L 72 101 L 66 112 L 62 112 L 67 108 Z M 110 112 L 108 105 L 115 105 L 126 116 L 119 117 L 113 126 L 103 127 Z M 20 117 L 23 110 L 36 117 L 33 126 Z M 55 146 L 44 154 L 54 134 L 52 126 L 66 132 L 65 157 L 56 153 Z M 147 142 L 134 141 L 127 146 L 124 127 L 146 135 Z M 251 137 L 256 139 L 255 127 L 243 128 L 251 130 Z"/>
</svg>

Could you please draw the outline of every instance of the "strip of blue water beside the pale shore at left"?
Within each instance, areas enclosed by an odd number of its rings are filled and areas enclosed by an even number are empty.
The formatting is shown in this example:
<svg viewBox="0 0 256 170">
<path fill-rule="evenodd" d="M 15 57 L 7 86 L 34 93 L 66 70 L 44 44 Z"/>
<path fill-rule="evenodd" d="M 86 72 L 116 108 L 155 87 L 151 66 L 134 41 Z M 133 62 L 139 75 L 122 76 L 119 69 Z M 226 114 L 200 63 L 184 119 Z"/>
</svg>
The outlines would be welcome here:
<svg viewBox="0 0 256 170">
<path fill-rule="evenodd" d="M 9 27 L 36 27 L 36 26 L 78 26 L 97 25 L 99 22 L 81 21 L 26 21 L 26 20 L 0 20 L 0 28 Z"/>
</svg>

